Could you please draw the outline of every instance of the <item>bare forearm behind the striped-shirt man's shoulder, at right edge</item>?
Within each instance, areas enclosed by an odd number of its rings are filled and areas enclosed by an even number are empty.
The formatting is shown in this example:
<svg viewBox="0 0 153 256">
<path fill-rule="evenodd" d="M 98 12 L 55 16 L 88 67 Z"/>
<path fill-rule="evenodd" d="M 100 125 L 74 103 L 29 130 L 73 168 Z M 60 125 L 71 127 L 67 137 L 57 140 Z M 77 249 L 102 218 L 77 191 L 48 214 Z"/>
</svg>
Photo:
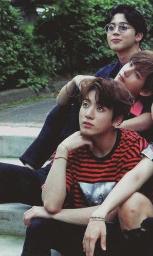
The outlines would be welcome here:
<svg viewBox="0 0 153 256">
<path fill-rule="evenodd" d="M 153 111 L 153 107 L 152 107 Z M 121 123 L 119 127 L 125 129 L 135 130 L 135 132 L 143 132 L 148 130 L 150 126 L 153 125 L 152 115 L 151 113 L 143 113 L 138 117 L 134 117 L 132 119 L 128 119 Z"/>
</svg>

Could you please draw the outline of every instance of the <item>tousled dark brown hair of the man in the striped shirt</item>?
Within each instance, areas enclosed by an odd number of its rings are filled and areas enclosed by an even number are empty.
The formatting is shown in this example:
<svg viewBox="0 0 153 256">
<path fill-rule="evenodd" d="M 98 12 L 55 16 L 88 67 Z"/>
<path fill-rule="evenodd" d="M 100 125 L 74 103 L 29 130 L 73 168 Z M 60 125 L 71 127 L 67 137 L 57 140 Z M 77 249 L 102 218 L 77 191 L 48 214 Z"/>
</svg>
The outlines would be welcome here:
<svg viewBox="0 0 153 256">
<path fill-rule="evenodd" d="M 81 83 L 80 101 L 88 96 L 89 92 L 96 91 L 95 100 L 99 106 L 113 109 L 113 120 L 122 115 L 125 117 L 134 104 L 130 91 L 114 79 L 95 78 L 93 81 L 84 79 Z"/>
</svg>

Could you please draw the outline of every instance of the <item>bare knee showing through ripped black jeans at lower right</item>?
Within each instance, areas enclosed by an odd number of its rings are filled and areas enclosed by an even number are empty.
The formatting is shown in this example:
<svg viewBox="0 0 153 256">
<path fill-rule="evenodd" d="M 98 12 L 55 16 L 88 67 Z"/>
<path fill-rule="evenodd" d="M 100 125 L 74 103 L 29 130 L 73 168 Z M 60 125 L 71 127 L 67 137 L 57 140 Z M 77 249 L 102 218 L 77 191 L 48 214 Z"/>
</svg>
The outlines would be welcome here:
<svg viewBox="0 0 153 256">
<path fill-rule="evenodd" d="M 145 195 L 135 192 L 119 207 L 119 221 L 122 229 L 135 229 L 141 222 L 153 216 L 153 206 Z"/>
</svg>

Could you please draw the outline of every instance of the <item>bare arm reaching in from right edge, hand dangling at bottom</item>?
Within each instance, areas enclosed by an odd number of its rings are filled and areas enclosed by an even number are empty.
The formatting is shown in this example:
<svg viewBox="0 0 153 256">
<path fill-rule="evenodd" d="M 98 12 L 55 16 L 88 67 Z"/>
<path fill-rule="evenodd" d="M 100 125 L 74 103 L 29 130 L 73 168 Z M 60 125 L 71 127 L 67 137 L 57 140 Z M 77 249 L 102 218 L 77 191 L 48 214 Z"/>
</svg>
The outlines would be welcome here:
<svg viewBox="0 0 153 256">
<path fill-rule="evenodd" d="M 117 206 L 126 201 L 130 195 L 139 190 L 152 175 L 153 162 L 145 157 L 134 169 L 121 178 L 108 194 L 102 205 L 100 205 L 91 216 L 105 218 L 109 212 L 117 208 Z M 93 256 L 95 242 L 99 237 L 102 249 L 106 249 L 106 226 L 104 221 L 90 221 L 84 235 L 84 249 L 87 256 Z"/>
</svg>

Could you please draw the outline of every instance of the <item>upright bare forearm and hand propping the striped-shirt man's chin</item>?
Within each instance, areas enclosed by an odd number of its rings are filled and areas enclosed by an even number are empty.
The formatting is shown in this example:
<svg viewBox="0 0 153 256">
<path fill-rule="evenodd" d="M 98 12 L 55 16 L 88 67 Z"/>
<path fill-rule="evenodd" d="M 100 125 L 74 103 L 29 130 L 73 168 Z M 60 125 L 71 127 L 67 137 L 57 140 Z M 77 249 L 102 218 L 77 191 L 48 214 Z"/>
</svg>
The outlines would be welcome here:
<svg viewBox="0 0 153 256">
<path fill-rule="evenodd" d="M 67 157 L 71 150 L 83 145 L 92 147 L 92 142 L 78 131 L 67 137 L 57 148 L 53 165 L 42 192 L 44 207 L 48 212 L 60 212 L 66 195 Z M 60 195 L 60 197 L 59 197 Z"/>
</svg>

